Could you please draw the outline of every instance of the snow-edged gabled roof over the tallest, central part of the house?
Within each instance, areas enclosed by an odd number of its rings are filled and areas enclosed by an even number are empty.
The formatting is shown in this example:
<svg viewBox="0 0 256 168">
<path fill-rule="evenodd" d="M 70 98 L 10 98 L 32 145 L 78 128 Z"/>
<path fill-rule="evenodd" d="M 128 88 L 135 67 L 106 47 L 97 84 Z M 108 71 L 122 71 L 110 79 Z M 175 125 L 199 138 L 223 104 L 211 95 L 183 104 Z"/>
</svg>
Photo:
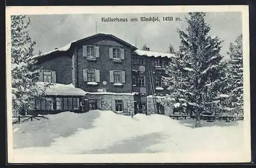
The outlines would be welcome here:
<svg viewBox="0 0 256 168">
<path fill-rule="evenodd" d="M 110 36 L 110 37 L 113 37 L 114 39 L 117 39 L 117 40 L 121 41 L 122 43 L 124 43 L 124 44 L 126 44 L 126 45 L 130 45 L 130 46 L 132 46 L 133 48 L 137 48 L 137 47 L 134 46 L 133 44 L 131 44 L 131 43 L 129 43 L 129 42 L 126 42 L 126 41 L 123 41 L 122 39 L 120 39 L 120 38 L 118 38 L 118 37 L 116 37 L 116 36 L 114 36 L 114 35 L 112 35 L 112 34 L 98 33 L 98 34 L 96 34 L 96 35 L 92 35 L 92 36 L 89 36 L 89 37 L 86 37 L 86 38 L 74 40 L 74 41 L 70 42 L 69 44 L 67 44 L 67 45 L 65 45 L 65 46 L 63 46 L 63 47 L 54 49 L 54 50 L 52 50 L 52 51 L 34 55 L 34 56 L 32 57 L 32 59 L 39 58 L 39 57 L 44 57 L 45 55 L 48 55 L 48 54 L 51 54 L 51 53 L 54 53 L 54 52 L 58 52 L 58 51 L 68 51 L 73 43 L 79 42 L 79 41 L 81 41 L 81 40 L 86 40 L 86 39 L 89 39 L 89 38 L 94 38 L 94 37 L 97 37 L 97 36 Z"/>
</svg>

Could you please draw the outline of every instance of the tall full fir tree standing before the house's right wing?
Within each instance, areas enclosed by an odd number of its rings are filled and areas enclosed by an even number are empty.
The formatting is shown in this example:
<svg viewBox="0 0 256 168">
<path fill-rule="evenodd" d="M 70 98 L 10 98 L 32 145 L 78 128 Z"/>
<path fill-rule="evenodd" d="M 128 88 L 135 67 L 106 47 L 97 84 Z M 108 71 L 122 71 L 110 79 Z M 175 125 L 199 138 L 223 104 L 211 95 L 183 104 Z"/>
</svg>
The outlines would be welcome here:
<svg viewBox="0 0 256 168">
<path fill-rule="evenodd" d="M 165 68 L 169 77 L 164 78 L 164 83 L 170 94 L 163 103 L 183 106 L 188 113 L 194 113 L 196 127 L 200 127 L 202 111 L 215 110 L 216 97 L 222 95 L 220 81 L 225 76 L 220 55 L 222 41 L 209 36 L 205 13 L 188 14 L 186 31 L 178 30 L 181 44 L 177 58 Z"/>
</svg>

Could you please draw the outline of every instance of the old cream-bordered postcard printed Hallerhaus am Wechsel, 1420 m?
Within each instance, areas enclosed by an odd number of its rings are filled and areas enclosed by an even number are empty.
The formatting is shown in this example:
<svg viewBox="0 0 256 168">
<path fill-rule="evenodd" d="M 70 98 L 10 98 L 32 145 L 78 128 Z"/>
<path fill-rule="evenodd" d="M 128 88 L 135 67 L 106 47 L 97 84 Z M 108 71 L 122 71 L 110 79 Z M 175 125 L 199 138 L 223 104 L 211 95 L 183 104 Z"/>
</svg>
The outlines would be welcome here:
<svg viewBox="0 0 256 168">
<path fill-rule="evenodd" d="M 9 163 L 250 162 L 248 6 L 6 8 Z"/>
</svg>

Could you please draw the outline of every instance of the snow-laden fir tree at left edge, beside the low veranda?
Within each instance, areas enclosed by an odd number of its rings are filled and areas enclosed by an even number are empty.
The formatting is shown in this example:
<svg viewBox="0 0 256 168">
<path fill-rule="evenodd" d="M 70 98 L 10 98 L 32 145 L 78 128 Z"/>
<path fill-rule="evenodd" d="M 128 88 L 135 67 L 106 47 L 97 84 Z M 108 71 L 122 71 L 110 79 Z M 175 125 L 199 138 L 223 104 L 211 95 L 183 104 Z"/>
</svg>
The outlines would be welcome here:
<svg viewBox="0 0 256 168">
<path fill-rule="evenodd" d="M 12 113 L 26 114 L 32 109 L 34 98 L 39 92 L 36 82 L 39 71 L 35 70 L 35 60 L 31 60 L 35 41 L 29 37 L 29 18 L 24 15 L 11 16 L 11 73 L 12 73 Z"/>
</svg>

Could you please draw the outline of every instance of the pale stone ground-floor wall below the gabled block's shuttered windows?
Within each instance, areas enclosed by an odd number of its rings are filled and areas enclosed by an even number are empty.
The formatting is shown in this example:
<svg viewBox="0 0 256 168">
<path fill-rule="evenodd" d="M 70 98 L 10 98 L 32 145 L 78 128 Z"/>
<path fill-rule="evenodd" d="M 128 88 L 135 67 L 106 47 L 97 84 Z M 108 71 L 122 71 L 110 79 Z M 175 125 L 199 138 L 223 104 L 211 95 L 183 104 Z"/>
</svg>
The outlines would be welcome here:
<svg viewBox="0 0 256 168">
<path fill-rule="evenodd" d="M 112 110 L 112 100 L 127 101 L 127 111 L 123 115 L 130 116 L 134 113 L 134 96 L 133 95 L 98 95 L 87 94 L 87 99 L 96 99 L 99 103 L 98 109 Z"/>
</svg>

